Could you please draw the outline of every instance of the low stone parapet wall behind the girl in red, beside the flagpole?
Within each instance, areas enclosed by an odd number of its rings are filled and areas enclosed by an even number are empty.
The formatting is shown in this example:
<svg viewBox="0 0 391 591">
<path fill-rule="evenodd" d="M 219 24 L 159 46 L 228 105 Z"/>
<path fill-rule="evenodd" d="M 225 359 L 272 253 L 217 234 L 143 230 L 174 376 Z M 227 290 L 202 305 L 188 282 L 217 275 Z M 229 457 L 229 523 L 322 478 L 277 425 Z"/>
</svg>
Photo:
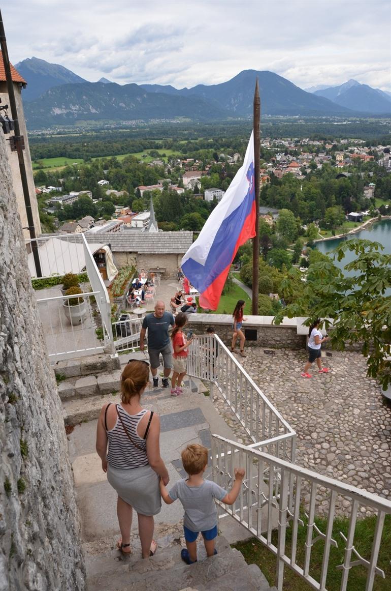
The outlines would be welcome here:
<svg viewBox="0 0 391 591">
<path fill-rule="evenodd" d="M 247 340 L 246 346 L 270 347 L 272 349 L 304 349 L 306 336 L 298 334 L 297 319 L 284 319 L 279 326 L 272 324 L 272 316 L 247 316 L 242 330 L 255 330 L 256 340 Z M 203 335 L 208 326 L 215 329 L 216 335 L 231 346 L 232 316 L 229 314 L 190 314 L 189 324 L 196 335 Z M 300 323 L 301 324 L 301 323 Z M 237 346 L 239 343 L 237 343 Z"/>
</svg>

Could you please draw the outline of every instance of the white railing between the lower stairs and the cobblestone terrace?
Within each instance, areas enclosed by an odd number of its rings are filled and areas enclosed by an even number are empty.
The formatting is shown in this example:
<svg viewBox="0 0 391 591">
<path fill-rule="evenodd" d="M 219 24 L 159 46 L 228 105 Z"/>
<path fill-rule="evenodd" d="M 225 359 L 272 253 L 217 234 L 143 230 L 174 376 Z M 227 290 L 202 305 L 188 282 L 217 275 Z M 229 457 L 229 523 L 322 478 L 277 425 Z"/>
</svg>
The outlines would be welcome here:
<svg viewBox="0 0 391 591">
<path fill-rule="evenodd" d="M 217 335 L 196 336 L 188 374 L 211 382 L 253 441 L 251 447 L 294 462 L 296 434 Z M 213 388 L 211 400 L 213 400 Z"/>
</svg>

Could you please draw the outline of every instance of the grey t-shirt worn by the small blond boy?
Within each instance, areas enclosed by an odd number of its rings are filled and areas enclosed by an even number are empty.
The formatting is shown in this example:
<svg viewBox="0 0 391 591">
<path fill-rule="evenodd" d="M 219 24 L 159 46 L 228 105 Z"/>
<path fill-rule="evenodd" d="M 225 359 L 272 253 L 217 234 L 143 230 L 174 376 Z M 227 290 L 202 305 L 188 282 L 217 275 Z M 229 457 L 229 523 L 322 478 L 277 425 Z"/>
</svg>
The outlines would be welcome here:
<svg viewBox="0 0 391 591">
<path fill-rule="evenodd" d="M 188 486 L 187 480 L 175 483 L 169 492 L 173 501 L 179 499 L 185 509 L 183 525 L 190 531 L 208 531 L 217 525 L 215 500 L 224 499 L 227 492 L 212 480 L 204 480 L 200 486 Z"/>
</svg>

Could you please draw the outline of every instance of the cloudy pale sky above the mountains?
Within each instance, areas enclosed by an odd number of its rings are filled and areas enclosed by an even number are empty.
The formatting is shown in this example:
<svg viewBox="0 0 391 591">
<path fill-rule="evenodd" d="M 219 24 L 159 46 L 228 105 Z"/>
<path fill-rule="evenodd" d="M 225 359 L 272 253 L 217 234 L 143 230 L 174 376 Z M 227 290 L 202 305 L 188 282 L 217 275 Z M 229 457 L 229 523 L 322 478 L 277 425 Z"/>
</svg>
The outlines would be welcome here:
<svg viewBox="0 0 391 591">
<path fill-rule="evenodd" d="M 96 82 L 216 84 L 271 70 L 295 85 L 391 90 L 390 0 L 1 0 L 12 63 Z"/>
</svg>

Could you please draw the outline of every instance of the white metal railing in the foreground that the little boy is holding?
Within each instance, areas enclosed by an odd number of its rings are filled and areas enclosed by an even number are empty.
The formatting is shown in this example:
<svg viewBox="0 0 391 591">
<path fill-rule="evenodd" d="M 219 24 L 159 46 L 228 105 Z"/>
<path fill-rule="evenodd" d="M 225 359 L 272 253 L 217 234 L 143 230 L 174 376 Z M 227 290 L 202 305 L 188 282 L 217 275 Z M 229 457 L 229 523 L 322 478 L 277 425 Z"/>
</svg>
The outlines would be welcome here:
<svg viewBox="0 0 391 591">
<path fill-rule="evenodd" d="M 212 436 L 212 462 L 213 479 L 225 489 L 232 486 L 235 467 L 245 468 L 245 478 L 235 505 L 218 504 L 277 556 L 278 591 L 282 591 L 285 565 L 313 589 L 325 591 L 330 554 L 341 543 L 344 558 L 336 567 L 341 570 L 340 591 L 346 591 L 350 570 L 358 565 L 367 570 L 366 591 L 373 589 L 376 574 L 385 578 L 384 571 L 377 566 L 377 559 L 385 516 L 391 514 L 391 501 L 218 435 Z M 322 532 L 317 527 L 316 514 L 317 506 L 324 502 L 328 504 L 327 525 Z M 337 525 L 334 524 L 339 504 L 344 504 L 349 512 L 347 535 L 336 531 Z M 377 517 L 372 551 L 370 556 L 362 557 L 355 547 L 356 521 L 366 509 L 376 513 Z M 291 528 L 289 543 L 286 540 L 288 527 Z M 272 539 L 275 528 L 276 541 Z M 305 552 L 304 557 L 299 557 L 298 535 L 303 531 Z M 321 565 L 311 561 L 311 551 L 316 543 L 323 544 Z M 349 589 L 353 588 L 349 586 Z"/>
</svg>

